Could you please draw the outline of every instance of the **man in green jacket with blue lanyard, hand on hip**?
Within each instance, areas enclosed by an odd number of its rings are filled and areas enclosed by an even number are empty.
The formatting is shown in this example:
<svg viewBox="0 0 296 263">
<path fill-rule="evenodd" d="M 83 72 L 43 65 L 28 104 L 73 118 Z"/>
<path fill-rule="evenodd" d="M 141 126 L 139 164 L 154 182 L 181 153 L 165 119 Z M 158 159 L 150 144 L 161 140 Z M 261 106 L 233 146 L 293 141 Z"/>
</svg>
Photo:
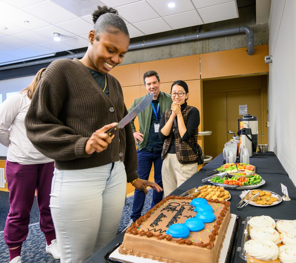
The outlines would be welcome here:
<svg viewBox="0 0 296 263">
<path fill-rule="evenodd" d="M 161 160 L 161 152 L 163 149 L 163 140 L 158 136 L 161 114 L 167 109 L 171 108 L 173 103 L 171 96 L 160 91 L 160 79 L 156 71 L 149 70 L 143 76 L 144 87 L 149 94 L 153 93 L 153 100 L 144 111 L 139 113 L 139 131 L 136 131 L 134 121 L 131 121 L 133 129 L 133 137 L 137 144 L 138 154 L 138 169 L 137 173 L 139 179 L 148 180 L 149 174 L 154 164 L 154 181 L 162 187 L 161 167 L 163 160 Z M 130 112 L 136 107 L 147 95 L 134 100 Z M 153 190 L 153 200 L 151 208 L 163 199 L 163 192 L 157 193 Z M 131 219 L 135 222 L 140 216 L 145 202 L 145 193 L 143 191 L 135 190 L 133 197 L 133 212 Z"/>
</svg>

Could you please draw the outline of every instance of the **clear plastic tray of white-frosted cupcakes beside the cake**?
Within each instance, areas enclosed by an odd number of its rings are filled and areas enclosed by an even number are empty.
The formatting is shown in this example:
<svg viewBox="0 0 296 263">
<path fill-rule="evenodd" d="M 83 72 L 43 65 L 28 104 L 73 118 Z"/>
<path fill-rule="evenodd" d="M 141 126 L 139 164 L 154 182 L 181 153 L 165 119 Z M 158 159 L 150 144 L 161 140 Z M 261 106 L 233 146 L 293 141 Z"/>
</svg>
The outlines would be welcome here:
<svg viewBox="0 0 296 263">
<path fill-rule="evenodd" d="M 239 256 L 252 263 L 296 262 L 296 220 L 249 216 L 244 221 Z"/>
</svg>

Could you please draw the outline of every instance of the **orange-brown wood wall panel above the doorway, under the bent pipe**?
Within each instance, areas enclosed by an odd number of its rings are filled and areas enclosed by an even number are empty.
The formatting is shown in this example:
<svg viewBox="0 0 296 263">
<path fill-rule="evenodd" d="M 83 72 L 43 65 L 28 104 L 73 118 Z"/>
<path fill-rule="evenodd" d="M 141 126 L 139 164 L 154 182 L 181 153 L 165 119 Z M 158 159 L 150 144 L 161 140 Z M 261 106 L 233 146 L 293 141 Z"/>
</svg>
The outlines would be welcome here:
<svg viewBox="0 0 296 263">
<path fill-rule="evenodd" d="M 216 78 L 268 72 L 264 56 L 268 45 L 255 46 L 255 53 L 248 55 L 246 48 L 205 53 L 200 55 L 201 78 Z"/>
</svg>

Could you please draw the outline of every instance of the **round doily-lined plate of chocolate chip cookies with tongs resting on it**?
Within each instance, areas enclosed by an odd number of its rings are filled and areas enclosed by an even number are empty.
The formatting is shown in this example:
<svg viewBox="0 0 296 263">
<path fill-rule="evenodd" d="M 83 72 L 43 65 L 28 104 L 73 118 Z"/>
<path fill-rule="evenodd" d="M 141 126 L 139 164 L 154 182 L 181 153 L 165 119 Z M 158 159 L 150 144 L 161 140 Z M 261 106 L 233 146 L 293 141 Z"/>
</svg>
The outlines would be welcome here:
<svg viewBox="0 0 296 263">
<path fill-rule="evenodd" d="M 283 199 L 279 194 L 276 194 L 272 191 L 268 190 L 252 190 L 251 191 L 251 197 L 253 197 L 255 194 L 259 192 L 259 197 L 257 201 L 251 201 L 249 204 L 254 205 L 254 206 L 260 206 L 260 207 L 266 207 L 266 206 L 272 206 L 279 204 Z M 244 198 L 244 196 L 247 194 L 247 191 L 244 190 L 242 193 L 239 195 L 241 199 Z M 247 202 L 248 200 L 245 199 L 244 202 Z"/>
</svg>

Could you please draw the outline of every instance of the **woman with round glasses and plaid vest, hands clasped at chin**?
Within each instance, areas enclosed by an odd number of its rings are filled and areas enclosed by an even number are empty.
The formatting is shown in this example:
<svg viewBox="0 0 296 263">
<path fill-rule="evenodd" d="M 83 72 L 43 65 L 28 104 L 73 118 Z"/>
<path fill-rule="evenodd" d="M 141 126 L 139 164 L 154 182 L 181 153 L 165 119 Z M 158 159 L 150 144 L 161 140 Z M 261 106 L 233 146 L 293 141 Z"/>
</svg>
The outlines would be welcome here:
<svg viewBox="0 0 296 263">
<path fill-rule="evenodd" d="M 176 80 L 170 95 L 173 103 L 161 116 L 158 133 L 165 140 L 161 169 L 165 196 L 196 173 L 198 165 L 198 154 L 193 148 L 197 148 L 200 113 L 197 108 L 187 105 L 189 92 L 186 82 Z"/>
</svg>

